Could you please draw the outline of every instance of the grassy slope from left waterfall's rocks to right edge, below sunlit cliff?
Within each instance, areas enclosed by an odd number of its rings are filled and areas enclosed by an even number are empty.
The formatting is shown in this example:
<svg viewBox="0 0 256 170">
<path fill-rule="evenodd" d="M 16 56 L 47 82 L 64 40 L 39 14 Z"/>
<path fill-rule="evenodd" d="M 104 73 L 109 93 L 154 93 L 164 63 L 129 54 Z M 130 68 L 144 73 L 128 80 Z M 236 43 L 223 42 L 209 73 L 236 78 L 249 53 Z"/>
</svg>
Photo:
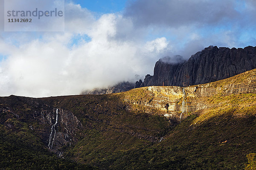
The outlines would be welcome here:
<svg viewBox="0 0 256 170">
<path fill-rule="evenodd" d="M 58 107 L 74 112 L 83 108 L 77 116 L 93 127 L 81 133 L 83 137 L 65 156 L 100 169 L 241 170 L 246 155 L 256 152 L 254 97 L 213 96 L 208 102 L 221 103 L 219 107 L 192 114 L 175 128 L 168 127 L 166 118 L 122 109 L 115 95 L 60 100 Z M 96 121 L 85 119 L 86 115 Z M 157 140 L 150 142 L 146 136 Z M 164 138 L 159 143 L 160 137 Z"/>
</svg>

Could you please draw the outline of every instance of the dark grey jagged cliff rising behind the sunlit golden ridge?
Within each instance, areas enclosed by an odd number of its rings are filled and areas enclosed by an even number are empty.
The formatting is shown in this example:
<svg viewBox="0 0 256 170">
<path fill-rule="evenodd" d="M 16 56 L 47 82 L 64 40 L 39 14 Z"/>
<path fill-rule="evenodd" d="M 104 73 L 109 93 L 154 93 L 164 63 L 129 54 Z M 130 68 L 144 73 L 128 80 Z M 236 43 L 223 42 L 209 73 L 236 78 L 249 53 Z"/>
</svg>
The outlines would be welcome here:
<svg viewBox="0 0 256 170">
<path fill-rule="evenodd" d="M 226 79 L 256 68 L 256 47 L 218 48 L 209 46 L 187 62 L 170 64 L 159 60 L 154 75 L 147 75 L 137 87 L 152 85 L 189 86 Z"/>
</svg>

